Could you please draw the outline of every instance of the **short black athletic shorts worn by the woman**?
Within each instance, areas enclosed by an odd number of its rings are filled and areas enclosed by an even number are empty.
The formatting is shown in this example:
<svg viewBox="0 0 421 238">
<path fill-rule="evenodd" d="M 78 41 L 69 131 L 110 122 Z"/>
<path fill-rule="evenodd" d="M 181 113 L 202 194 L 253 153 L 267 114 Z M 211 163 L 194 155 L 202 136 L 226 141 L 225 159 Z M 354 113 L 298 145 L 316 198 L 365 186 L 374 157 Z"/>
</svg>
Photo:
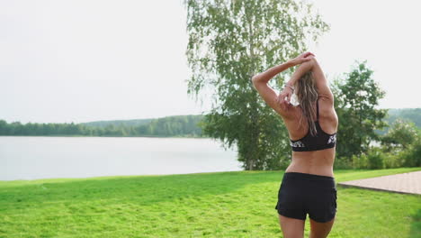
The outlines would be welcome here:
<svg viewBox="0 0 421 238">
<path fill-rule="evenodd" d="M 330 176 L 286 172 L 283 174 L 275 209 L 278 214 L 319 223 L 336 215 L 336 182 Z"/>
</svg>

